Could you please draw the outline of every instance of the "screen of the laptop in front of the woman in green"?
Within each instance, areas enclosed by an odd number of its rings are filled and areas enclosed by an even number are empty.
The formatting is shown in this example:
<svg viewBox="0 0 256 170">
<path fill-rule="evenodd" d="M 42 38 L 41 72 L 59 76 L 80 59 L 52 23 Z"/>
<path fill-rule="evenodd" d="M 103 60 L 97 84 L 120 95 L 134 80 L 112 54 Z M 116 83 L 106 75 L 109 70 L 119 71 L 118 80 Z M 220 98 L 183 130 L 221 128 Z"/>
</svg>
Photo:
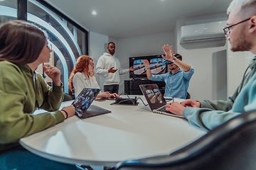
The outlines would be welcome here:
<svg viewBox="0 0 256 170">
<path fill-rule="evenodd" d="M 90 104 L 94 99 L 96 98 L 97 94 L 100 93 L 100 89 L 90 89 L 90 88 L 84 88 L 80 92 L 77 98 L 75 98 L 75 101 L 73 101 L 73 106 L 75 107 L 75 114 L 79 117 L 82 117 L 82 115 L 87 111 Z"/>
</svg>

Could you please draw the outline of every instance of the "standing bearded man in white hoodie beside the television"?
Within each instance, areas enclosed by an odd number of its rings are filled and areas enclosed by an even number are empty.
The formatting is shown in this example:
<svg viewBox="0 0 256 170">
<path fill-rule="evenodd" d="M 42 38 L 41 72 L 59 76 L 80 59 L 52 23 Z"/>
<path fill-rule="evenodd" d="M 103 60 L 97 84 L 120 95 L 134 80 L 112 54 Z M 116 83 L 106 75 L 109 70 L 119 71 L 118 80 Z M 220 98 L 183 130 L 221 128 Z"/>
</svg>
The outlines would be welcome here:
<svg viewBox="0 0 256 170">
<path fill-rule="evenodd" d="M 114 56 L 114 42 L 108 43 L 107 50 L 108 53 L 105 52 L 100 56 L 100 59 L 97 62 L 96 73 L 101 74 L 104 78 L 104 91 L 109 91 L 110 94 L 118 94 L 120 81 L 119 74 L 134 71 L 134 69 L 133 67 L 130 67 L 129 69 L 121 69 L 119 60 Z"/>
</svg>

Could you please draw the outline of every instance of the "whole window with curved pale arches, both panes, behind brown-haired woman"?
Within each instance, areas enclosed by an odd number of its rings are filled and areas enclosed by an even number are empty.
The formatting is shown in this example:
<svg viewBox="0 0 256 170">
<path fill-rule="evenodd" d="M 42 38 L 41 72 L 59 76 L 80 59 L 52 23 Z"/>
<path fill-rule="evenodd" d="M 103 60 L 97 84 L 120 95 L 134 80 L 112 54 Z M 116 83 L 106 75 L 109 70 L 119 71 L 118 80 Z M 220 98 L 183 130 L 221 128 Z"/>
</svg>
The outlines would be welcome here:
<svg viewBox="0 0 256 170">
<path fill-rule="evenodd" d="M 87 30 L 74 26 L 63 17 L 36 0 L 27 1 L 27 21 L 47 31 L 48 44 L 53 50 L 50 64 L 60 69 L 64 92 L 68 93 L 68 77 L 75 66 L 76 59 L 81 55 L 87 55 Z M 1 0 L 0 26 L 16 19 L 17 0 Z M 50 83 L 51 80 L 44 74 L 42 66 L 39 66 L 36 71 Z"/>
</svg>

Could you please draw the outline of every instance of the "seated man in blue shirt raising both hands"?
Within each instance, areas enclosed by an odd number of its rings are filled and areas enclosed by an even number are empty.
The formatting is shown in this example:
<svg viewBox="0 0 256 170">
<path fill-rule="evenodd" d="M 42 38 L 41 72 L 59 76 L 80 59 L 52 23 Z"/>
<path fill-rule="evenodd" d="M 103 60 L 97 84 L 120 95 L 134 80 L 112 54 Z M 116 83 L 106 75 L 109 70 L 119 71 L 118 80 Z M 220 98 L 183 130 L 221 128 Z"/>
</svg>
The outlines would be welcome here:
<svg viewBox="0 0 256 170">
<path fill-rule="evenodd" d="M 177 53 L 174 55 L 172 47 L 169 47 L 169 45 L 164 45 L 163 50 L 166 56 L 162 55 L 162 57 L 171 61 L 171 64 L 169 64 L 171 72 L 152 74 L 149 61 L 143 60 L 142 63 L 146 67 L 146 77 L 152 81 L 165 81 L 164 96 L 186 99 L 189 81 L 194 73 L 194 69 L 191 65 L 182 62 L 181 55 Z"/>
</svg>

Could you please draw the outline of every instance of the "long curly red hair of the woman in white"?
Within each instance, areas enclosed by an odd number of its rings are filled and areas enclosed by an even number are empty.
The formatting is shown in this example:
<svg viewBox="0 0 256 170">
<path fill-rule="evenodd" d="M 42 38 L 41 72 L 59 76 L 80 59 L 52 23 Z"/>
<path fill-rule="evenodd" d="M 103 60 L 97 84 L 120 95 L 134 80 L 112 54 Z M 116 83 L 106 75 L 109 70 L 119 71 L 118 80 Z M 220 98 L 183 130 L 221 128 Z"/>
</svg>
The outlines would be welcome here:
<svg viewBox="0 0 256 170">
<path fill-rule="evenodd" d="M 72 70 L 70 77 L 68 79 L 68 89 L 70 91 L 74 90 L 74 86 L 73 86 L 73 77 L 75 76 L 75 74 L 77 72 L 87 72 L 87 74 L 89 74 L 89 76 L 94 76 L 94 72 L 92 70 L 91 73 L 89 73 L 89 63 L 90 60 L 92 60 L 91 57 L 87 56 L 87 55 L 82 55 L 78 58 L 77 62 L 75 63 L 75 67 Z M 93 60 L 92 60 L 93 61 Z"/>
</svg>

